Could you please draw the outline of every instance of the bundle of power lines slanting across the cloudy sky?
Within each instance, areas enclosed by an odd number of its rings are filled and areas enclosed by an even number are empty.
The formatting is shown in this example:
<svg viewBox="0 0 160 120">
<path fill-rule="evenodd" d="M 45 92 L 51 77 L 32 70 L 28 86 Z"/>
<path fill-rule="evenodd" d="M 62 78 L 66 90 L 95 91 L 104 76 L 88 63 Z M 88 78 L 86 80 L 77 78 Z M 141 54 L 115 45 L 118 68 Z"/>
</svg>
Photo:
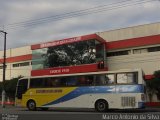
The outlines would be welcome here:
<svg viewBox="0 0 160 120">
<path fill-rule="evenodd" d="M 157 0 L 154 0 L 154 1 L 157 1 Z M 97 7 L 92 7 L 92 8 L 88 8 L 88 9 L 84 9 L 84 10 L 78 10 L 78 11 L 74 11 L 74 12 L 64 13 L 64 14 L 60 14 L 60 15 L 49 16 L 49 17 L 35 19 L 35 20 L 28 20 L 28 21 L 24 21 L 24 22 L 12 23 L 12 24 L 6 25 L 6 27 L 9 29 L 16 29 L 19 27 L 29 27 L 29 26 L 33 26 L 33 25 L 58 21 L 58 20 L 62 20 L 62 19 L 69 19 L 69 18 L 80 17 L 80 16 L 84 16 L 84 15 L 88 15 L 88 14 L 95 14 L 95 13 L 104 12 L 104 11 L 111 11 L 111 10 L 120 9 L 123 7 L 129 7 L 129 6 L 133 6 L 133 5 L 137 5 L 137 4 L 147 3 L 147 2 L 153 2 L 153 0 L 138 0 L 138 1 L 134 0 L 134 2 L 128 2 L 128 0 L 124 0 L 121 2 L 111 3 L 108 5 L 101 5 L 101 6 L 97 6 Z"/>
</svg>

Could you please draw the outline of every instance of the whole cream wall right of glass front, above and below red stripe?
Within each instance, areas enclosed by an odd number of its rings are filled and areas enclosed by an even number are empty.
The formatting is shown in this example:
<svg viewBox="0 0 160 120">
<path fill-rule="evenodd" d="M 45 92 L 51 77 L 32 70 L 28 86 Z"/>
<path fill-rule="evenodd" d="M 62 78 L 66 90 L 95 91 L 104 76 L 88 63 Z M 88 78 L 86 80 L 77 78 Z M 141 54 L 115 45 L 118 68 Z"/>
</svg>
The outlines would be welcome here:
<svg viewBox="0 0 160 120">
<path fill-rule="evenodd" d="M 122 28 L 117 30 L 98 32 L 96 34 L 101 36 L 107 42 L 120 41 L 125 39 L 139 38 L 152 35 L 160 35 L 160 22 Z M 140 46 L 140 47 L 145 48 L 146 46 Z M 160 69 L 159 66 L 160 52 L 133 54 L 132 49 L 137 49 L 137 48 L 127 48 L 131 50 L 130 55 L 107 57 L 109 70 L 117 70 L 122 68 L 142 68 L 145 74 L 153 74 L 155 70 Z M 117 51 L 121 50 L 123 49 L 117 49 Z"/>
</svg>

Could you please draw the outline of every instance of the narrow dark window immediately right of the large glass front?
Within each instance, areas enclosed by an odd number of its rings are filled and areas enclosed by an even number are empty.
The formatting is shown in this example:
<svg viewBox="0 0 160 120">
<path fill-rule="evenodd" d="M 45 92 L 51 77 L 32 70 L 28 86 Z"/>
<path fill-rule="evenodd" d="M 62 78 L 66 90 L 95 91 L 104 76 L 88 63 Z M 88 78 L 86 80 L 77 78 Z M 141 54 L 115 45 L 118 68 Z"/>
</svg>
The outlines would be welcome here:
<svg viewBox="0 0 160 120">
<path fill-rule="evenodd" d="M 116 52 L 108 52 L 108 53 L 107 53 L 107 57 L 128 55 L 129 53 L 130 53 L 130 50 L 123 50 L 123 51 L 116 51 Z"/>
</svg>

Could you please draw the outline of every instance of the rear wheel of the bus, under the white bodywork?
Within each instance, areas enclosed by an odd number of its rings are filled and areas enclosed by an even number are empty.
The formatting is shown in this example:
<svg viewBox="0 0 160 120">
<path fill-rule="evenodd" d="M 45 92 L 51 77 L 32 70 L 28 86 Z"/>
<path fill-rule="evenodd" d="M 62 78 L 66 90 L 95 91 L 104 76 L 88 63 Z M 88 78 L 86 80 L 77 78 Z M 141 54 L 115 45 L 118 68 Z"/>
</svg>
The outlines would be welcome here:
<svg viewBox="0 0 160 120">
<path fill-rule="evenodd" d="M 108 102 L 106 100 L 103 100 L 103 99 L 96 101 L 96 103 L 95 103 L 95 109 L 98 112 L 105 112 L 105 111 L 107 111 L 107 109 L 108 109 Z"/>
</svg>

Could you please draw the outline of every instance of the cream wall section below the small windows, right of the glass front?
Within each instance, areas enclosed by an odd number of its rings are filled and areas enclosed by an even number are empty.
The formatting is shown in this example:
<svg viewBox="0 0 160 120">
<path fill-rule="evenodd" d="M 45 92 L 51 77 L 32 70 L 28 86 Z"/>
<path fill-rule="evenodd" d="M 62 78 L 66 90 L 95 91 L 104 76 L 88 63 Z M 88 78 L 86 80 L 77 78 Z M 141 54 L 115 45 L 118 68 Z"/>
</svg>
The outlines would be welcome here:
<svg viewBox="0 0 160 120">
<path fill-rule="evenodd" d="M 152 75 L 160 70 L 160 51 L 108 57 L 107 66 L 109 70 L 142 68 L 146 75 Z"/>
</svg>

